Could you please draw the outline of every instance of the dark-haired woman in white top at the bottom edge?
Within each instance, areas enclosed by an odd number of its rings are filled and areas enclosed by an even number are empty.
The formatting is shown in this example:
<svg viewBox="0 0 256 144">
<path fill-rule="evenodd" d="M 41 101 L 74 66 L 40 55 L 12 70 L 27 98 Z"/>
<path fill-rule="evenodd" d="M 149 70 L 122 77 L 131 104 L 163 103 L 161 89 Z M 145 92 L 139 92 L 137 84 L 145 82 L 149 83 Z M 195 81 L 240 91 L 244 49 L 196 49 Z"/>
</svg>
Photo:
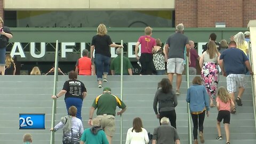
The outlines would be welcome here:
<svg viewBox="0 0 256 144">
<path fill-rule="evenodd" d="M 133 119 L 131 127 L 127 131 L 125 144 L 147 144 L 149 142 L 148 132 L 142 126 L 142 121 L 139 117 Z"/>
</svg>

